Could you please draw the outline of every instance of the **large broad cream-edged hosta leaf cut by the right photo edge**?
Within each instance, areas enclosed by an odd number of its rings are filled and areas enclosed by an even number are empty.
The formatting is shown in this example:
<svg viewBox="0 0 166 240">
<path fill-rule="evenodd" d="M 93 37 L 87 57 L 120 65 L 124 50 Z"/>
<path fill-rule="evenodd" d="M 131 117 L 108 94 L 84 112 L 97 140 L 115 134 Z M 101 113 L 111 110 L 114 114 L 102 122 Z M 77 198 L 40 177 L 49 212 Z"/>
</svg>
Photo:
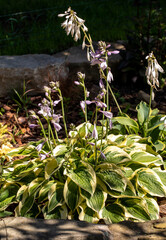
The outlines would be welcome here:
<svg viewBox="0 0 166 240">
<path fill-rule="evenodd" d="M 137 183 L 144 191 L 152 196 L 166 197 L 166 186 L 163 185 L 160 177 L 150 168 L 143 168 L 137 171 Z"/>
</svg>

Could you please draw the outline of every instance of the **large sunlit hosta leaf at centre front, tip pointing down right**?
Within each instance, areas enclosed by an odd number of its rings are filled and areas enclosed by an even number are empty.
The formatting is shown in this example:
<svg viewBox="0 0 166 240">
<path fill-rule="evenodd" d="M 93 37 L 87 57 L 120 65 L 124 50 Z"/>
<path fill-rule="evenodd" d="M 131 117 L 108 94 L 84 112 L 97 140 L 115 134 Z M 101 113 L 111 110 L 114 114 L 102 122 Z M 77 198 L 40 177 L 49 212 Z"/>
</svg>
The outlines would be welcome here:
<svg viewBox="0 0 166 240">
<path fill-rule="evenodd" d="M 75 169 L 66 169 L 64 175 L 67 175 L 80 188 L 83 188 L 91 195 L 95 192 L 96 174 L 88 163 L 80 161 Z"/>
</svg>

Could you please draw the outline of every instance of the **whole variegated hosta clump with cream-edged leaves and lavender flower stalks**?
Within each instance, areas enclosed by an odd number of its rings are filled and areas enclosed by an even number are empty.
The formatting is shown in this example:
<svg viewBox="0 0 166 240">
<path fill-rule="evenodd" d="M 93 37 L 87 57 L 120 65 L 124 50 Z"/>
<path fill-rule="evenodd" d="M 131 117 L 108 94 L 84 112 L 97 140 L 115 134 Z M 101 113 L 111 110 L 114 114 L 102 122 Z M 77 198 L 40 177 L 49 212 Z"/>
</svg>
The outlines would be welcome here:
<svg viewBox="0 0 166 240">
<path fill-rule="evenodd" d="M 45 87 L 40 110 L 31 112 L 44 139 L 6 154 L 15 160 L 1 168 L 0 216 L 15 214 L 92 223 L 158 219 L 157 198 L 166 197 L 166 116 L 144 102 L 137 106 L 137 121 L 124 114 L 110 86 L 110 46 L 100 41 L 95 51 L 85 21 L 71 8 L 60 16 L 66 17 L 62 26 L 75 40 L 83 32 L 88 59 L 99 67 L 100 92 L 89 100 L 85 75 L 78 74 L 76 84 L 84 89 L 80 105 L 85 122 L 68 132 L 59 83 L 51 82 Z M 108 90 L 118 106 L 117 117 L 109 111 Z M 58 100 L 52 100 L 52 92 L 57 93 Z M 55 113 L 58 103 L 62 115 Z M 95 105 L 93 123 L 87 114 L 90 104 Z M 47 134 L 43 119 L 48 125 Z M 58 137 L 61 119 L 64 139 Z"/>
</svg>

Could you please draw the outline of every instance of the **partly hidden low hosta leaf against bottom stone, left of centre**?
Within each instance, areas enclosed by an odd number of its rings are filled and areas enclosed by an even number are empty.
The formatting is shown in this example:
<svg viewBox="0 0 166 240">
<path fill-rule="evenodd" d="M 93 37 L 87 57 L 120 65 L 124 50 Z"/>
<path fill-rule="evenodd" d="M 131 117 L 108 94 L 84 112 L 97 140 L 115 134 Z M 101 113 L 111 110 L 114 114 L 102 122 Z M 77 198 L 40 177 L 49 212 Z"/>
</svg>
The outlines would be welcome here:
<svg viewBox="0 0 166 240">
<path fill-rule="evenodd" d="M 67 206 L 65 204 L 62 206 L 58 206 L 51 212 L 48 212 L 47 206 L 45 206 L 43 209 L 43 215 L 45 219 L 67 219 Z"/>
</svg>

